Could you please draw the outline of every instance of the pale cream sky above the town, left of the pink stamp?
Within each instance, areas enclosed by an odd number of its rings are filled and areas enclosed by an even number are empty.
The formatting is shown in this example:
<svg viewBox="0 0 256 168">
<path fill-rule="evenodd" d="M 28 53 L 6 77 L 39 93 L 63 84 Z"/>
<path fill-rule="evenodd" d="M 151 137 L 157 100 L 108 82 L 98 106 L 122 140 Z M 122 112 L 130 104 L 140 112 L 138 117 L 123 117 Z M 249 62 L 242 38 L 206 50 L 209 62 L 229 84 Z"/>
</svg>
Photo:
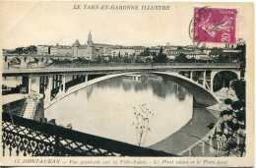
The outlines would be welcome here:
<svg viewBox="0 0 256 168">
<path fill-rule="evenodd" d="M 49 44 L 72 45 L 87 42 L 92 31 L 95 43 L 156 46 L 192 45 L 189 24 L 193 6 L 170 5 L 170 10 L 114 11 L 74 9 L 74 5 L 100 2 L 2 2 L 0 36 L 2 48 Z M 101 4 L 118 5 L 114 2 Z M 120 3 L 120 2 L 119 2 Z M 123 5 L 138 5 L 125 2 Z M 160 5 L 158 2 L 142 5 Z M 162 5 L 162 4 L 161 4 Z"/>
</svg>

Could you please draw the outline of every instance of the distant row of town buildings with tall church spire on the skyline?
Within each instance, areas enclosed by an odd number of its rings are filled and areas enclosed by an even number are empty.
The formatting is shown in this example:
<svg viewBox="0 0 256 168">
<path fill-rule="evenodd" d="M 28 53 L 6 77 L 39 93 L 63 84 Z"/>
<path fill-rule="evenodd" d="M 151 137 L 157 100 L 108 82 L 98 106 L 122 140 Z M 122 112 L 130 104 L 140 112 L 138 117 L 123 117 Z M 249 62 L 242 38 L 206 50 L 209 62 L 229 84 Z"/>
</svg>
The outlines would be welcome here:
<svg viewBox="0 0 256 168">
<path fill-rule="evenodd" d="M 169 60 L 174 60 L 180 54 L 185 54 L 188 59 L 208 59 L 208 56 L 218 56 L 220 53 L 224 52 L 233 52 L 237 53 L 238 51 L 235 48 L 239 45 L 245 45 L 245 41 L 242 38 L 238 38 L 237 44 L 225 44 L 225 48 L 201 48 L 197 49 L 193 45 L 187 46 L 174 46 L 169 43 L 166 46 L 153 46 L 149 48 L 150 57 L 141 57 L 143 58 L 152 58 L 159 55 L 160 50 L 162 53 L 166 54 Z M 141 56 L 143 52 L 146 51 L 145 46 L 122 46 L 122 45 L 109 45 L 102 43 L 94 43 L 93 36 L 91 31 L 88 34 L 88 39 L 86 44 L 81 44 L 78 39 L 71 45 L 37 45 L 37 54 L 38 55 L 54 55 L 54 56 L 69 56 L 74 58 L 84 58 L 91 61 L 109 60 L 110 57 L 119 57 L 119 58 L 137 58 Z M 145 60 L 144 59 L 144 60 Z"/>
</svg>

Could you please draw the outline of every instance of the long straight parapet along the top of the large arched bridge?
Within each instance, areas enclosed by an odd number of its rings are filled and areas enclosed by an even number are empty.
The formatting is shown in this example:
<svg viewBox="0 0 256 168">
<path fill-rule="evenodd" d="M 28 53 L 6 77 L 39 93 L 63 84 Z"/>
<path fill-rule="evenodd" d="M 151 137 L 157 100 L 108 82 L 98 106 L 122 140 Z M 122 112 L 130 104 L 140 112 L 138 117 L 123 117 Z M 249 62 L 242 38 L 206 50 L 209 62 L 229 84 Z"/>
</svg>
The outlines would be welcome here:
<svg viewBox="0 0 256 168">
<path fill-rule="evenodd" d="M 107 74 L 108 72 L 125 72 L 125 71 L 239 71 L 239 64 L 232 63 L 164 63 L 164 64 L 83 64 L 83 65 L 54 65 L 48 67 L 33 67 L 33 68 L 12 68 L 3 69 L 3 76 L 8 74 L 49 74 L 49 73 L 101 73 Z"/>
</svg>

